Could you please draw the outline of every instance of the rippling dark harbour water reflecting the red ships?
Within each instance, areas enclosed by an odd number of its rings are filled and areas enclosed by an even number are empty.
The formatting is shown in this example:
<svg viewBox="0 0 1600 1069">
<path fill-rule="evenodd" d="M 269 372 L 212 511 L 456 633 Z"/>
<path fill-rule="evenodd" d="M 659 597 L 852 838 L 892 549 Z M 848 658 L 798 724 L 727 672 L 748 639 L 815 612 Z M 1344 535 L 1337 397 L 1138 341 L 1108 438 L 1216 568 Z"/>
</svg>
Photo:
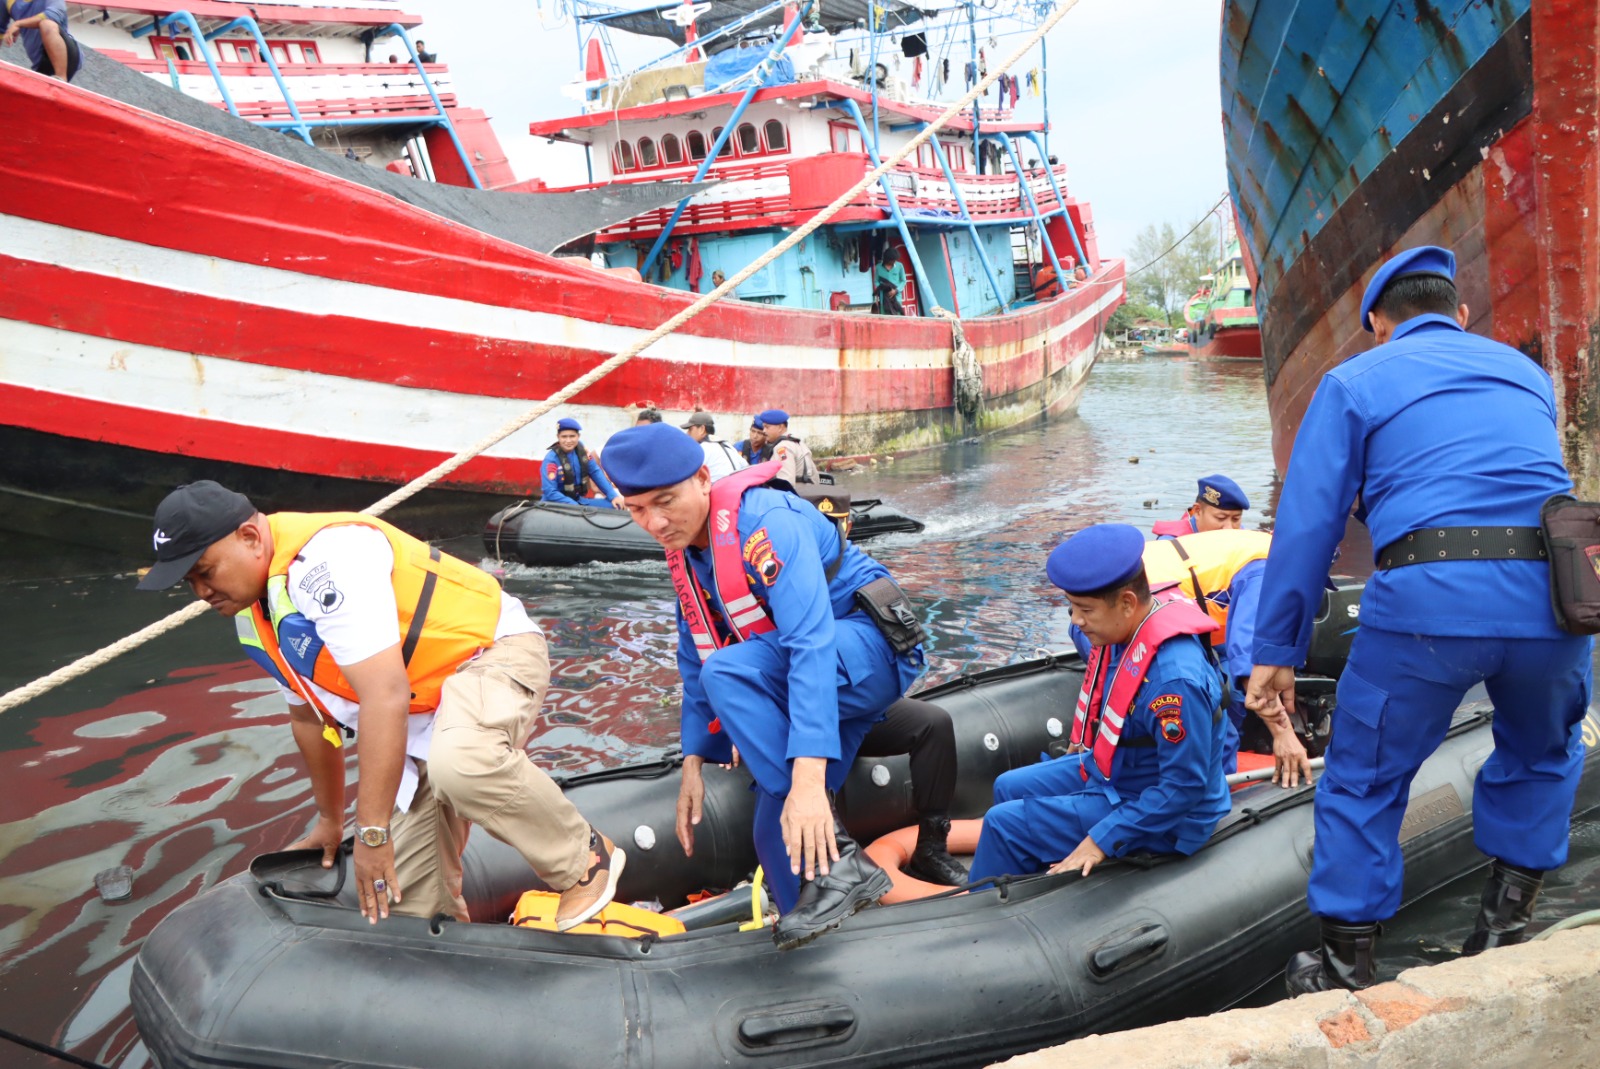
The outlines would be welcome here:
<svg viewBox="0 0 1600 1069">
<path fill-rule="evenodd" d="M 1136 462 L 1134 462 L 1136 461 Z M 1272 459 L 1261 371 L 1250 365 L 1107 360 L 1077 418 L 957 445 L 851 477 L 928 522 L 872 544 L 928 608 L 925 682 L 1066 645 L 1064 602 L 1045 554 L 1101 520 L 1147 526 L 1222 470 L 1270 522 Z M 374 494 L 376 496 L 376 494 Z M 475 536 L 448 543 L 482 560 Z M 179 608 L 118 575 L 147 563 L 8 536 L 0 581 L 11 688 Z M 1358 571 L 1352 541 L 1341 570 Z M 486 567 L 493 567 L 485 562 Z M 674 624 L 666 570 L 514 567 L 507 587 L 550 637 L 554 683 L 531 743 L 579 770 L 648 757 L 675 741 Z M 0 1026 L 133 1069 L 146 1064 L 126 976 L 149 930 L 176 906 L 282 847 L 312 807 L 280 703 L 237 655 L 227 621 L 206 618 L 53 695 L 0 715 Z M 107 906 L 98 871 L 130 864 L 134 898 Z M 1382 943 L 1384 971 L 1453 957 L 1478 879 L 1405 911 Z M 1541 919 L 1600 904 L 1600 827 L 1581 824 L 1573 863 L 1550 877 Z M 1264 989 L 1262 999 L 1277 987 Z M 288 1024 L 288 1023 L 286 1023 Z M 59 1066 L 0 1045 L 0 1066 Z"/>
</svg>

